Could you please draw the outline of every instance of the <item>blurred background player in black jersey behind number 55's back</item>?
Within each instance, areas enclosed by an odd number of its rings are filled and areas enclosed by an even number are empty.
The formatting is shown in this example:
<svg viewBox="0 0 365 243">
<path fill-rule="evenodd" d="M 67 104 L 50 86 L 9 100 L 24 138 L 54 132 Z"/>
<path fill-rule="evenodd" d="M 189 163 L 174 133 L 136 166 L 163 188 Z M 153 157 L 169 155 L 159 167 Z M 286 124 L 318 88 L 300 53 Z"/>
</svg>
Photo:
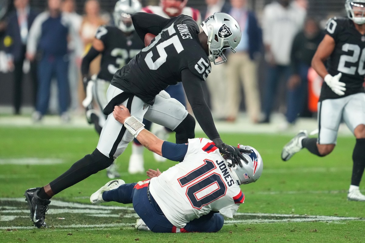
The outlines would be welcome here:
<svg viewBox="0 0 365 243">
<path fill-rule="evenodd" d="M 87 97 L 82 104 L 86 108 L 88 122 L 93 123 L 100 134 L 106 116 L 103 109 L 107 105 L 106 92 L 115 72 L 128 63 L 145 45 L 134 31 L 132 14 L 141 11 L 138 0 L 119 0 L 114 8 L 115 26 L 100 26 L 96 32 L 93 45 L 82 59 L 81 73 Z M 100 72 L 97 77 L 89 77 L 90 63 L 101 54 Z M 100 109 L 97 113 L 93 109 L 93 101 Z M 110 179 L 119 177 L 115 163 L 107 168 Z"/>
</svg>

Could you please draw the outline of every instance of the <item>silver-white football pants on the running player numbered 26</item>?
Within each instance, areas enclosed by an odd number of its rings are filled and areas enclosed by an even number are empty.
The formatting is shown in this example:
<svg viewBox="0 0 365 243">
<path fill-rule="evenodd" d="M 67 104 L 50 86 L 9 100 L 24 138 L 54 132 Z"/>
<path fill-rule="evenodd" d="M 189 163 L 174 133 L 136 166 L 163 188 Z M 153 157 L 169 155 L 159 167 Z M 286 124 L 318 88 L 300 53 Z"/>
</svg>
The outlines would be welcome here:
<svg viewBox="0 0 365 243">
<path fill-rule="evenodd" d="M 318 102 L 319 144 L 336 144 L 341 121 L 354 132 L 360 124 L 365 124 L 365 93 L 352 94 L 338 99 Z"/>
</svg>

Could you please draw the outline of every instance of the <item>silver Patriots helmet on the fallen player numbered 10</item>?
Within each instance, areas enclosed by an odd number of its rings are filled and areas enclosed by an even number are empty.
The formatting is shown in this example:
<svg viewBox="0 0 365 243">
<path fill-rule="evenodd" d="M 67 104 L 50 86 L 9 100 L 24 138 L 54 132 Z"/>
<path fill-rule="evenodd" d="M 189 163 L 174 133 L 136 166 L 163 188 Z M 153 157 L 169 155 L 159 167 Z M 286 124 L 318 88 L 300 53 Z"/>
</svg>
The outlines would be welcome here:
<svg viewBox="0 0 365 243">
<path fill-rule="evenodd" d="M 236 165 L 231 167 L 231 172 L 233 179 L 235 179 L 239 185 L 249 184 L 252 182 L 256 182 L 262 173 L 262 169 L 264 168 L 264 163 L 262 162 L 261 155 L 251 146 L 238 145 L 240 149 L 251 150 L 250 154 L 242 153 L 243 157 L 246 158 L 248 164 L 241 160 L 242 167 Z M 230 162 L 230 161 L 228 161 Z"/>
</svg>

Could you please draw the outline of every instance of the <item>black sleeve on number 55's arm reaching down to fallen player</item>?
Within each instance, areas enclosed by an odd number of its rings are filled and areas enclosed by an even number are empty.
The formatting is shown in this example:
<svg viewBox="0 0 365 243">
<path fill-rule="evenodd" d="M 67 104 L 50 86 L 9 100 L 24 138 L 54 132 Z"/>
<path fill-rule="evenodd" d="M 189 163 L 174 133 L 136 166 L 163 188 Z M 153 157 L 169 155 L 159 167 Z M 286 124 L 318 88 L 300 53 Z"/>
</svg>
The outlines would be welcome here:
<svg viewBox="0 0 365 243">
<path fill-rule="evenodd" d="M 212 113 L 204 100 L 203 88 L 201 87 L 202 81 L 187 68 L 181 71 L 181 80 L 188 101 L 201 129 L 203 129 L 210 140 L 218 138 L 219 133 L 215 128 Z"/>
</svg>

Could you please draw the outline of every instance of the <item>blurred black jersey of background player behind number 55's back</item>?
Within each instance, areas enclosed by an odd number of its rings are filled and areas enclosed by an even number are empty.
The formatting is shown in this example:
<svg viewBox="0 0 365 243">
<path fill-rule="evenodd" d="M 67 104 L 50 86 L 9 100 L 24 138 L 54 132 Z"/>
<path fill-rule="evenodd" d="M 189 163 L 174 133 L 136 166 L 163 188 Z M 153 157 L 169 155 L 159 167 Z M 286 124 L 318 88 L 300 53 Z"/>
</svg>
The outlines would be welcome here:
<svg viewBox="0 0 365 243">
<path fill-rule="evenodd" d="M 97 77 L 106 81 L 111 81 L 115 72 L 145 47 L 135 32 L 126 35 L 115 26 L 100 26 L 95 38 L 104 44 L 104 51 L 101 52 L 100 72 Z"/>
</svg>

